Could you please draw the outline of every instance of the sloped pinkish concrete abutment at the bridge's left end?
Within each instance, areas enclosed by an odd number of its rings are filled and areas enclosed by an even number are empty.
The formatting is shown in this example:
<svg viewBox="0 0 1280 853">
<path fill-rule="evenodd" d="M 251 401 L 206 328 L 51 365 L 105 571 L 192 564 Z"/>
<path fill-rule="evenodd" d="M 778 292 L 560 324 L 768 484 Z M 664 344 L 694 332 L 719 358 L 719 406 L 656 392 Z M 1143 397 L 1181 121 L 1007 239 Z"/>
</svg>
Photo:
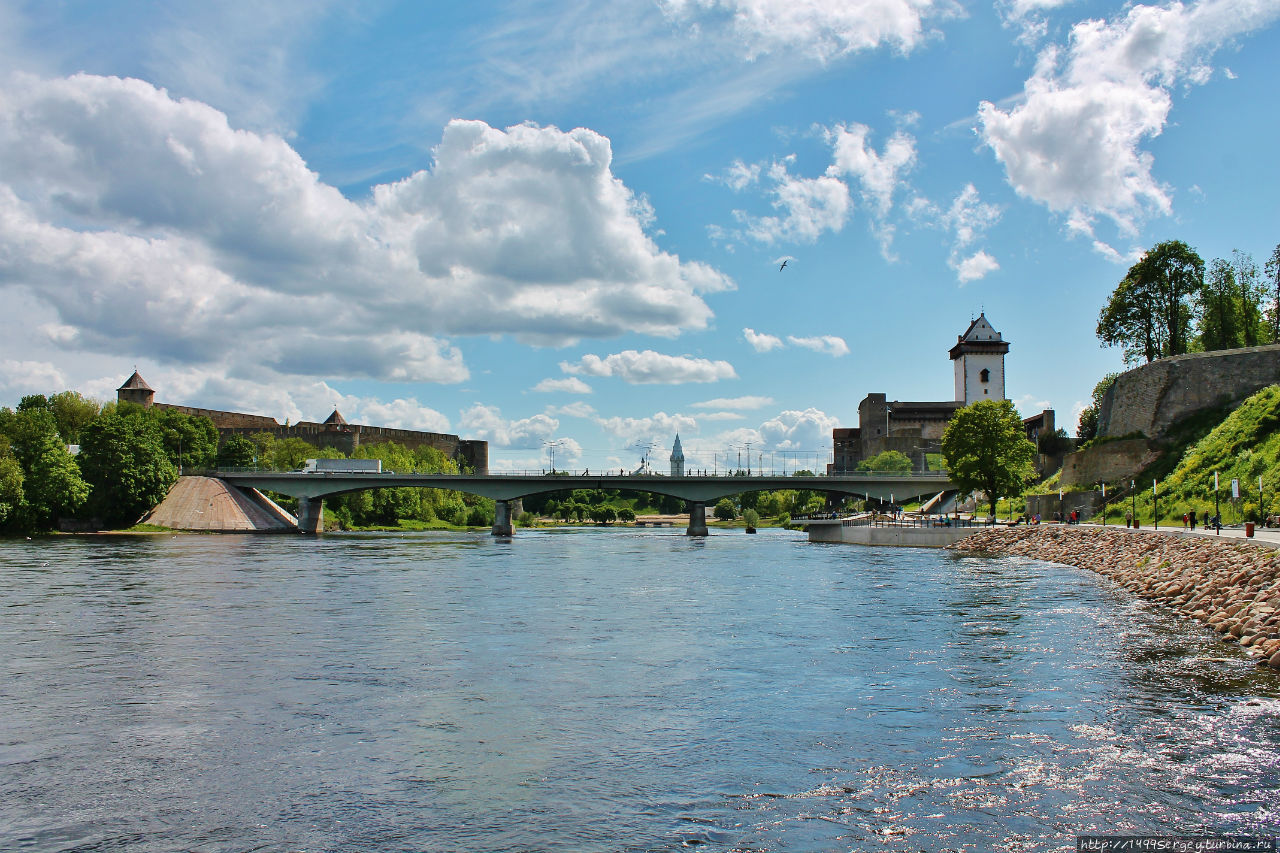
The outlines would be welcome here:
<svg viewBox="0 0 1280 853">
<path fill-rule="evenodd" d="M 257 489 L 212 476 L 179 476 L 169 494 L 143 519 L 173 530 L 209 533 L 297 533 L 298 521 Z"/>
</svg>

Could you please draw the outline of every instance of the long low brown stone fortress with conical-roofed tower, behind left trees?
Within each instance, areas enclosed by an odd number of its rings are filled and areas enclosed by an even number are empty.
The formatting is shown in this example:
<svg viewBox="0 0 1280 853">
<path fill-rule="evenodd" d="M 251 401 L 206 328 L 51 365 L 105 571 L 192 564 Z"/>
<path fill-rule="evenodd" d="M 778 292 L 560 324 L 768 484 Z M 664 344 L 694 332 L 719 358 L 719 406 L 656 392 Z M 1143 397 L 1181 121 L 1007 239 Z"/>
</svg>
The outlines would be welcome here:
<svg viewBox="0 0 1280 853">
<path fill-rule="evenodd" d="M 255 433 L 270 433 L 278 439 L 301 438 L 317 448 L 333 448 L 351 456 L 362 444 L 396 442 L 410 450 L 431 447 L 458 462 L 465 470 L 476 474 L 489 473 L 489 442 L 485 441 L 468 441 L 447 433 L 428 433 L 416 429 L 348 424 L 337 409 L 323 424 L 302 420 L 282 425 L 266 415 L 156 402 L 155 393 L 151 386 L 134 370 L 133 375 L 116 388 L 115 397 L 120 402 L 137 403 L 145 409 L 169 409 L 184 415 L 207 418 L 218 428 L 219 443 L 225 442 L 232 435 L 248 437 Z"/>
</svg>

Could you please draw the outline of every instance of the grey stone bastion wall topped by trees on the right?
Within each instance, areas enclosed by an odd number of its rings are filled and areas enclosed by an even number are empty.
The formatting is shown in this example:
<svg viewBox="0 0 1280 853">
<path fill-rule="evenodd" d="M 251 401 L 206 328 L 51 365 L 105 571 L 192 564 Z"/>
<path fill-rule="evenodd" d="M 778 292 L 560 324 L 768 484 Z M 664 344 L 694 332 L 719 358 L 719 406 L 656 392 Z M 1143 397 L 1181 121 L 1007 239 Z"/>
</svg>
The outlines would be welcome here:
<svg viewBox="0 0 1280 853">
<path fill-rule="evenodd" d="M 1116 378 L 1098 412 L 1098 435 L 1160 439 L 1188 415 L 1276 383 L 1280 345 L 1160 359 Z"/>
</svg>

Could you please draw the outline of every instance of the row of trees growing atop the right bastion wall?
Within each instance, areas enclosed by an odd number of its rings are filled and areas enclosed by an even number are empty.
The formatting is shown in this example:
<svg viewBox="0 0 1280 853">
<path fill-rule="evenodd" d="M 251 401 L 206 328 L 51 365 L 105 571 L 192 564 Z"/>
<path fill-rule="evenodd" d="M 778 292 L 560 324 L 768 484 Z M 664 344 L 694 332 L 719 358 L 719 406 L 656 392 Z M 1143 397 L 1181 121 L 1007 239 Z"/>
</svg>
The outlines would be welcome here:
<svg viewBox="0 0 1280 853">
<path fill-rule="evenodd" d="M 1280 343 L 1280 246 L 1260 270 L 1239 250 L 1206 266 L 1180 240 L 1157 243 L 1102 306 L 1097 336 L 1126 364 Z"/>
</svg>

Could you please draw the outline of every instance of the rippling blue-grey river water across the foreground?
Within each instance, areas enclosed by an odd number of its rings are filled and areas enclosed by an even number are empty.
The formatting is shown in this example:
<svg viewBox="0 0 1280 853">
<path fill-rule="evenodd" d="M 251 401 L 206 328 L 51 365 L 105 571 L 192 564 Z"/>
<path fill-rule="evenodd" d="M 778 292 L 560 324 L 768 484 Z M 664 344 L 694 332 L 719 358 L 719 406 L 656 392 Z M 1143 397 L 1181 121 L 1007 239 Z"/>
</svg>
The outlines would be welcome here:
<svg viewBox="0 0 1280 853">
<path fill-rule="evenodd" d="M 1091 573 L 797 534 L 0 543 L 0 849 L 1280 834 L 1280 676 Z"/>
</svg>

